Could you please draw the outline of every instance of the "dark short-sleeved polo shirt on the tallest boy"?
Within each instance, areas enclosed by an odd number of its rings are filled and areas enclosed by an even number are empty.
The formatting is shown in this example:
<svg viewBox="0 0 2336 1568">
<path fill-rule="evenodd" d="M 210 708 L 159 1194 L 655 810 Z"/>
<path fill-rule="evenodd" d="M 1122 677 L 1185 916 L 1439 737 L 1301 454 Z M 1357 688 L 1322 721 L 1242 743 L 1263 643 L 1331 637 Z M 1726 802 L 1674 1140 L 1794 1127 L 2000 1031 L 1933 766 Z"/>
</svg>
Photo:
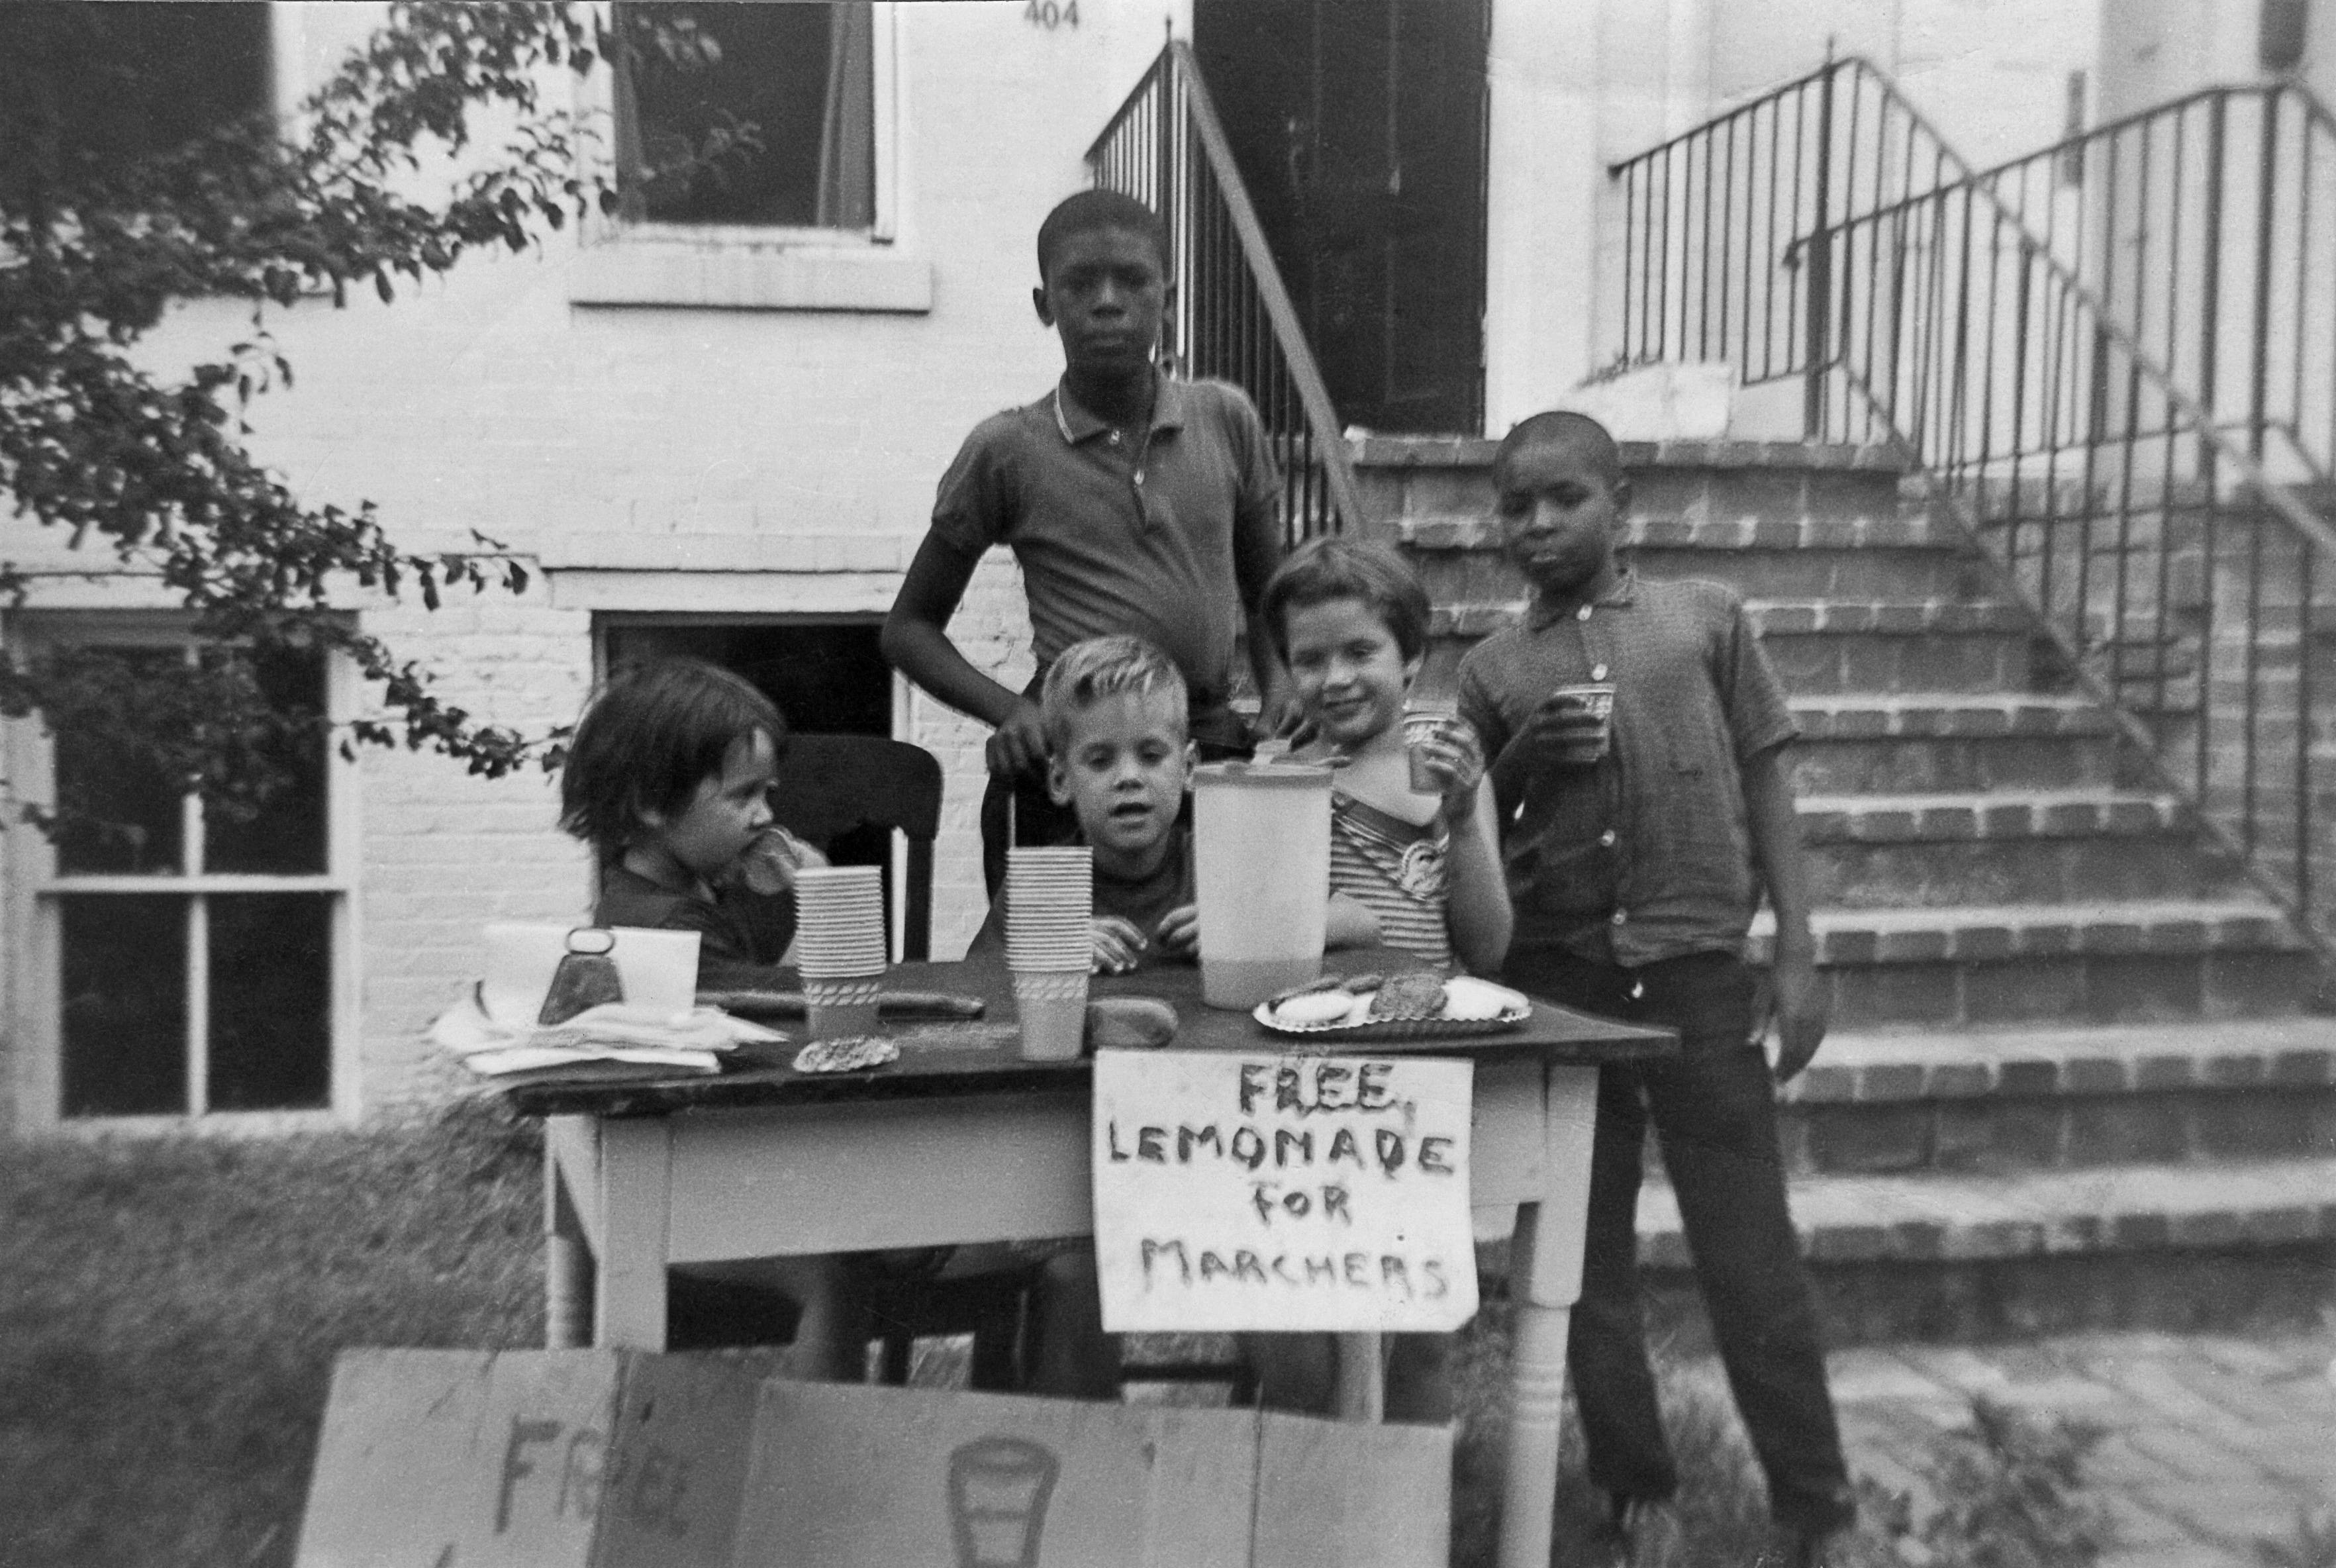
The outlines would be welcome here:
<svg viewBox="0 0 2336 1568">
<path fill-rule="evenodd" d="M 1280 551 L 1280 481 L 1240 388 L 1159 381 L 1142 442 L 1063 388 L 981 421 L 941 474 L 934 537 L 1023 568 L 1040 668 L 1128 633 L 1166 652 L 1194 703 L 1224 701 L 1233 636 Z"/>
</svg>

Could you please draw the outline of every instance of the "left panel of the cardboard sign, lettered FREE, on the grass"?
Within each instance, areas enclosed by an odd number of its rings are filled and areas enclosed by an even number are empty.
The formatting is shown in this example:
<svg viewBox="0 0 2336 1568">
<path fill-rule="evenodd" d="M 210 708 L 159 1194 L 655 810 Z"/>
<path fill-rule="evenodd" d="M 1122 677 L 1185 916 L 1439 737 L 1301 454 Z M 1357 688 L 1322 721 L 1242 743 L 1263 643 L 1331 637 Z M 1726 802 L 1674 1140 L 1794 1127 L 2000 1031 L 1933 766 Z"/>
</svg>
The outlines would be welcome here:
<svg viewBox="0 0 2336 1568">
<path fill-rule="evenodd" d="M 299 1568 L 729 1568 L 759 1379 L 626 1351 L 343 1351 Z"/>
</svg>

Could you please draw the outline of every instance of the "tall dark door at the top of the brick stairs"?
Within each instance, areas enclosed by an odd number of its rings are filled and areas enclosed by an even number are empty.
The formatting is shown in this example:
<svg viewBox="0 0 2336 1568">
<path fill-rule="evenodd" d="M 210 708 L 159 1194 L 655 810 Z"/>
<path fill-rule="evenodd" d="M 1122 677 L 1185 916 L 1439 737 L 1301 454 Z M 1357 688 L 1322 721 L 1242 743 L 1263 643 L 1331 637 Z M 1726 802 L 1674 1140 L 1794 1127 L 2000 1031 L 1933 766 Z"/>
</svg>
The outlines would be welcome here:
<svg viewBox="0 0 2336 1568">
<path fill-rule="evenodd" d="M 1194 0 L 1194 54 L 1339 418 L 1483 418 L 1486 0 Z"/>
</svg>

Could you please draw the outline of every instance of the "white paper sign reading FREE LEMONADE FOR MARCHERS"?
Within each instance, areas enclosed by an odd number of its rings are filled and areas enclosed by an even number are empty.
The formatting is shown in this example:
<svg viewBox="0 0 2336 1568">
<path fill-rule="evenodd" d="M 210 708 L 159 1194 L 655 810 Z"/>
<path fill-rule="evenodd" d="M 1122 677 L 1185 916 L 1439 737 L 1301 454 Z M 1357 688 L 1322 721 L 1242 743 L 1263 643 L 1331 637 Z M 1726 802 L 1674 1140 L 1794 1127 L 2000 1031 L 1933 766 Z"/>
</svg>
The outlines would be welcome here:
<svg viewBox="0 0 2336 1568">
<path fill-rule="evenodd" d="M 1430 1330 L 1476 1316 L 1467 1061 L 1096 1054 L 1112 1332 Z"/>
</svg>

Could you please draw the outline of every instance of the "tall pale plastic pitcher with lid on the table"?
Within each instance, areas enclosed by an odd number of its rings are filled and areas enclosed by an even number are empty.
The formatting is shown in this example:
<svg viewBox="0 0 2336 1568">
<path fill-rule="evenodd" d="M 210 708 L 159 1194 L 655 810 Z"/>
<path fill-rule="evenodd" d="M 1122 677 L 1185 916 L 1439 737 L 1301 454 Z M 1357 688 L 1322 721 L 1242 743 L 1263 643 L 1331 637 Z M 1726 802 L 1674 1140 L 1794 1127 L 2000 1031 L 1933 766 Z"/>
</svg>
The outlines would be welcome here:
<svg viewBox="0 0 2336 1568">
<path fill-rule="evenodd" d="M 1194 771 L 1201 1000 L 1257 1007 L 1322 972 L 1329 907 L 1327 766 L 1210 762 Z"/>
</svg>

